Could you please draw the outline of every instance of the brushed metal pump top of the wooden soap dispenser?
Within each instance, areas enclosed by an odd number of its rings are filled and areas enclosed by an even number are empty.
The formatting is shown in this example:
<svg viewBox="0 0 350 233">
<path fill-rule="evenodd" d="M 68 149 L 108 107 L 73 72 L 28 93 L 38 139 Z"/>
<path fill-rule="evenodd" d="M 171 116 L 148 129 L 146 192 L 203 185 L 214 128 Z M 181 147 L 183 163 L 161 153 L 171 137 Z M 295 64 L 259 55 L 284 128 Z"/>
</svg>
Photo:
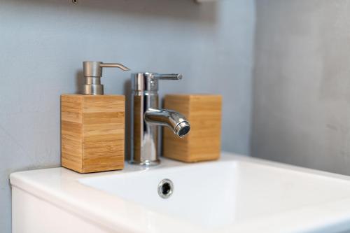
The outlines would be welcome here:
<svg viewBox="0 0 350 233">
<path fill-rule="evenodd" d="M 129 68 L 118 63 L 83 62 L 83 73 L 85 77 L 83 94 L 104 94 L 104 85 L 101 84 L 102 68 L 104 67 L 129 71 Z"/>
</svg>

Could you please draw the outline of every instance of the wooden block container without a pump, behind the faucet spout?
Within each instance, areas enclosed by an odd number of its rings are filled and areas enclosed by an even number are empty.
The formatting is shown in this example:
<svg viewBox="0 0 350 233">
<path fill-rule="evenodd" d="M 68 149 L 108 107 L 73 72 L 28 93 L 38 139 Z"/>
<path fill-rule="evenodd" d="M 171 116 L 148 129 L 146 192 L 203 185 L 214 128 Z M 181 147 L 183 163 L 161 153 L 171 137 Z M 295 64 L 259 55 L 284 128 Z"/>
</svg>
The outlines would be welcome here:
<svg viewBox="0 0 350 233">
<path fill-rule="evenodd" d="M 163 131 L 163 156 L 183 162 L 216 160 L 221 153 L 221 96 L 211 94 L 168 94 L 164 106 L 183 114 L 190 133 L 179 139 Z"/>
</svg>

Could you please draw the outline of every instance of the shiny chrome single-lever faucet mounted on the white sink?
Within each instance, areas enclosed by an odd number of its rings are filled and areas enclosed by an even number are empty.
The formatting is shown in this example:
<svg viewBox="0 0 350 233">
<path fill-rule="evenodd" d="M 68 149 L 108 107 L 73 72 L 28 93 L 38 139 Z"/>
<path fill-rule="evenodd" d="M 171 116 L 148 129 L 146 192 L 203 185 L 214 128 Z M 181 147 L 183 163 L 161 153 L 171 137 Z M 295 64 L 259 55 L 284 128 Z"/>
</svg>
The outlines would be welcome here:
<svg viewBox="0 0 350 233">
<path fill-rule="evenodd" d="M 181 74 L 133 73 L 130 162 L 159 164 L 158 126 L 167 126 L 182 138 L 190 132 L 190 122 L 176 111 L 160 109 L 158 80 L 179 80 Z"/>
</svg>

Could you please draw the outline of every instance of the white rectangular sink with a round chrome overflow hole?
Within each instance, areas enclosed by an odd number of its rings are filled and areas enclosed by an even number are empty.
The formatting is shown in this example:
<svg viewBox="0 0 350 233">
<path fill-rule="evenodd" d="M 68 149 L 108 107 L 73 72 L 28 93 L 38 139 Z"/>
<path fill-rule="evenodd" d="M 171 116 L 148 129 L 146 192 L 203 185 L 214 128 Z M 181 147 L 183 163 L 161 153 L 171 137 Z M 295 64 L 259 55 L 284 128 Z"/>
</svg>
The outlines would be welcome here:
<svg viewBox="0 0 350 233">
<path fill-rule="evenodd" d="M 168 178 L 173 194 L 162 199 Z M 13 232 L 350 232 L 350 178 L 223 153 L 221 160 L 77 174 L 23 171 Z"/>
</svg>

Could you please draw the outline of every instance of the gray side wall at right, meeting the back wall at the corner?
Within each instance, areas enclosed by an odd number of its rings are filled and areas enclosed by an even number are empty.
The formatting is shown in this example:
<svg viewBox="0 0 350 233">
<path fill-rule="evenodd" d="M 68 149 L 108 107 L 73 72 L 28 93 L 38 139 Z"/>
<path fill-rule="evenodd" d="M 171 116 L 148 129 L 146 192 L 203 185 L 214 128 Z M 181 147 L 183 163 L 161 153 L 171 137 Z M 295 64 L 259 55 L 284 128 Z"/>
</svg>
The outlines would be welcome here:
<svg viewBox="0 0 350 233">
<path fill-rule="evenodd" d="M 350 175 L 350 1 L 256 1 L 252 155 Z"/>
</svg>

